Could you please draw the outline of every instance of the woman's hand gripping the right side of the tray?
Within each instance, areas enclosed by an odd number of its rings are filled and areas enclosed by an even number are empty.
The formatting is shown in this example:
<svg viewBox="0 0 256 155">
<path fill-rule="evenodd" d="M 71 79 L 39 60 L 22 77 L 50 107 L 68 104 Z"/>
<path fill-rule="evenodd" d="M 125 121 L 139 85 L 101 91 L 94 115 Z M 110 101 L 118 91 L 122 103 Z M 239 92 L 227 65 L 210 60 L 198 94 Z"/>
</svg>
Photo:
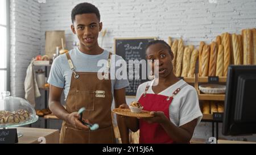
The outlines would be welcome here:
<svg viewBox="0 0 256 155">
<path fill-rule="evenodd" d="M 153 115 L 154 117 L 143 118 L 143 120 L 149 124 L 152 124 L 152 123 L 163 124 L 168 121 L 168 118 L 166 117 L 166 115 L 164 115 L 164 112 L 162 112 L 162 111 L 158 111 L 158 112 L 151 111 L 150 114 Z"/>
</svg>

